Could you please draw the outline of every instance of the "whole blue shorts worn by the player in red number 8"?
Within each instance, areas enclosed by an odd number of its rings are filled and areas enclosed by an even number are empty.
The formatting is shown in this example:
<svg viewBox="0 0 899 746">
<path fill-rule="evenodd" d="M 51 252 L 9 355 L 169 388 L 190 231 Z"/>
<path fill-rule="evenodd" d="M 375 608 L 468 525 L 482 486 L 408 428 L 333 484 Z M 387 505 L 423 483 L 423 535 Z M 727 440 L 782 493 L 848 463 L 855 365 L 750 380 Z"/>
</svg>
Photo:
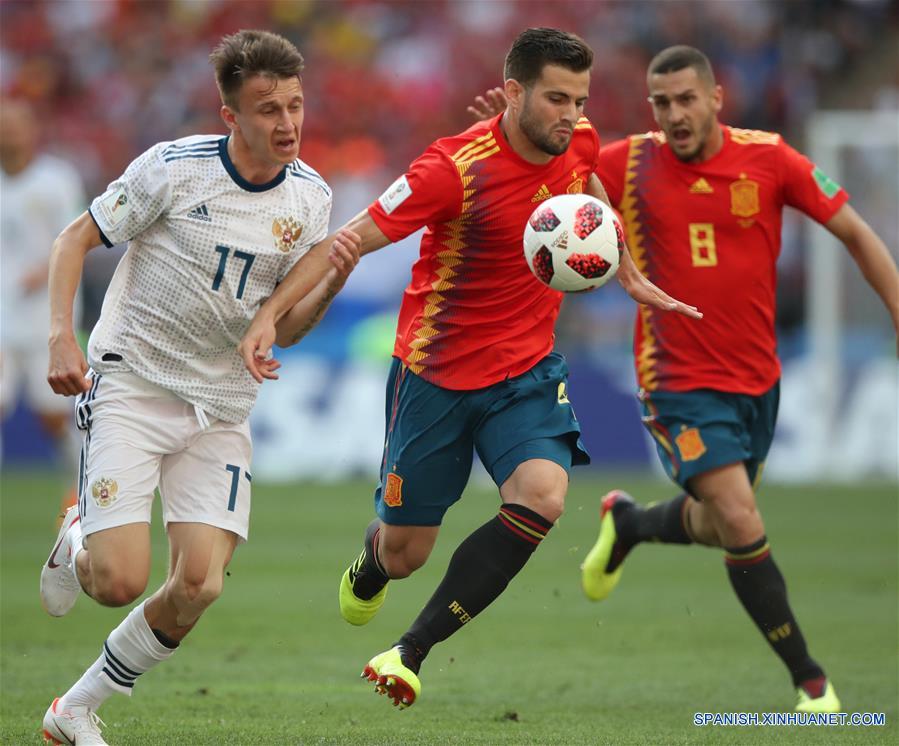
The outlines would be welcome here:
<svg viewBox="0 0 899 746">
<path fill-rule="evenodd" d="M 643 392 L 640 401 L 662 465 L 684 489 L 691 477 L 740 461 L 753 485 L 761 479 L 780 382 L 760 396 L 697 389 Z"/>
</svg>

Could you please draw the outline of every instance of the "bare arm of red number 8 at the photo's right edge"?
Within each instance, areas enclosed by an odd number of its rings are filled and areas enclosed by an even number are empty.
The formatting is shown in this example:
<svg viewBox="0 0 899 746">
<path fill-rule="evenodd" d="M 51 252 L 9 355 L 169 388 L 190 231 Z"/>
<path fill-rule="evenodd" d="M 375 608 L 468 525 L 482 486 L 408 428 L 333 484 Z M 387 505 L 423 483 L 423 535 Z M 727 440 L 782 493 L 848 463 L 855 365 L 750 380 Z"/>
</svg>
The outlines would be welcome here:
<svg viewBox="0 0 899 746">
<path fill-rule="evenodd" d="M 825 227 L 845 244 L 862 275 L 890 312 L 899 335 L 899 271 L 886 244 L 849 204 L 837 210 Z"/>
</svg>

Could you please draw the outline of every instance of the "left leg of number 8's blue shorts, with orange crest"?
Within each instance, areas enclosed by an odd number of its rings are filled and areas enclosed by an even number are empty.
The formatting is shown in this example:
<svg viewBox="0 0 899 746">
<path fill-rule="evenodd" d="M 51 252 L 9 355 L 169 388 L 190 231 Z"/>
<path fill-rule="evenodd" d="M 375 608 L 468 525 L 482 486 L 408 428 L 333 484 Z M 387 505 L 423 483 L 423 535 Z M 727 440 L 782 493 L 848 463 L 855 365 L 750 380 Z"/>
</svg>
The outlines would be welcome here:
<svg viewBox="0 0 899 746">
<path fill-rule="evenodd" d="M 741 397 L 708 389 L 641 397 L 643 424 L 665 471 L 684 489 L 696 475 L 752 459 Z"/>
</svg>

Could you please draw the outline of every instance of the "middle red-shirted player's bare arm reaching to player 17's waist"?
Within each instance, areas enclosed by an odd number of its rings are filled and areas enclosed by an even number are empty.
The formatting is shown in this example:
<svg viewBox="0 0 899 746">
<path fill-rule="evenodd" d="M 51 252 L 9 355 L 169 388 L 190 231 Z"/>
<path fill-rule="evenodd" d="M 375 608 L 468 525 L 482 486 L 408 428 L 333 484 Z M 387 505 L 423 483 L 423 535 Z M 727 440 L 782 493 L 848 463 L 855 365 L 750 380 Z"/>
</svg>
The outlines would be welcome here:
<svg viewBox="0 0 899 746">
<path fill-rule="evenodd" d="M 350 242 L 358 239 L 360 255 L 369 254 L 390 243 L 368 211 L 363 210 L 336 233 L 313 246 L 293 266 L 271 297 L 256 312 L 237 347 L 250 375 L 259 383 L 265 379 L 277 378 L 270 362 L 272 345 L 278 338 L 277 324 L 322 282 L 334 266 L 330 255 L 338 236 Z"/>
</svg>

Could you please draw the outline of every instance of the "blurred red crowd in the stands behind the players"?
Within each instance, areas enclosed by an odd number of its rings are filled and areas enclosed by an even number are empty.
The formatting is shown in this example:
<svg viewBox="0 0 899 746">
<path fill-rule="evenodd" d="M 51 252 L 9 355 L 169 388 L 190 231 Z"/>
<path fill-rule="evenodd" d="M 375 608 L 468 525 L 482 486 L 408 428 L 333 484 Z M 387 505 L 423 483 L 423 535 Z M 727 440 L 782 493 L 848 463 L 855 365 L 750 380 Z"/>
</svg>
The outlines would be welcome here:
<svg viewBox="0 0 899 746">
<path fill-rule="evenodd" d="M 433 139 L 470 123 L 466 106 L 501 83 L 505 52 L 527 26 L 573 30 L 593 46 L 587 115 L 606 141 L 652 128 L 646 66 L 675 43 L 711 58 L 725 88 L 723 121 L 779 131 L 800 149 L 817 110 L 899 107 L 895 0 L 4 0 L 0 21 L 2 92 L 34 104 L 46 148 L 77 166 L 88 195 L 155 142 L 224 131 L 207 60 L 223 34 L 284 34 L 306 58 L 301 157 L 334 187 L 335 225 Z M 895 248 L 895 153 L 850 160 L 853 204 Z M 787 216 L 779 315 L 787 356 L 804 344 L 807 230 Z M 93 254 L 88 329 L 119 256 Z M 415 254 L 407 240 L 366 258 L 305 350 L 388 355 Z M 892 335 L 867 296 L 850 283 L 835 302 L 850 317 L 867 309 L 857 354 L 883 354 Z M 617 286 L 574 299 L 560 347 L 629 370 L 633 311 Z"/>
</svg>

